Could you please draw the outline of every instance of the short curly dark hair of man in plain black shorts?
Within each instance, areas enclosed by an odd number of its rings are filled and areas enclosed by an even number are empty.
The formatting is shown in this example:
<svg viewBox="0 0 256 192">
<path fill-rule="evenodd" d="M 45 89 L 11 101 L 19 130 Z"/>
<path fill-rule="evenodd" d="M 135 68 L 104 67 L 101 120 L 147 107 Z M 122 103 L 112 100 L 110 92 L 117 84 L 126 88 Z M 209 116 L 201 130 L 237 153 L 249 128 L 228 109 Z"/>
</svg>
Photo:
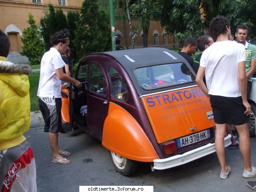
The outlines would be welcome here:
<svg viewBox="0 0 256 192">
<path fill-rule="evenodd" d="M 218 37 L 220 34 L 224 34 L 227 32 L 226 26 L 230 27 L 229 20 L 224 16 L 217 16 L 211 19 L 209 28 L 211 30 L 211 33 L 215 37 Z"/>
</svg>

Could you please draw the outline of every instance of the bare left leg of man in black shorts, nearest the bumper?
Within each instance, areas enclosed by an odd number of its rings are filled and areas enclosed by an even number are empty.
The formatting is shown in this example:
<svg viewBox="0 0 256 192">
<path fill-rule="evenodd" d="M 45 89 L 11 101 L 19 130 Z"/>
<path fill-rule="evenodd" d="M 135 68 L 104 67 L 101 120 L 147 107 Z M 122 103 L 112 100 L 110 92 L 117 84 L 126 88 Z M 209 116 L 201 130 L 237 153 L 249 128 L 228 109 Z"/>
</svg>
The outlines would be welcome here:
<svg viewBox="0 0 256 192">
<path fill-rule="evenodd" d="M 225 155 L 225 148 L 224 148 L 224 137 L 226 133 L 226 124 L 215 124 L 215 149 L 219 159 L 219 164 L 221 170 L 223 172 L 227 172 L 228 168 L 226 166 L 226 155 Z"/>
</svg>

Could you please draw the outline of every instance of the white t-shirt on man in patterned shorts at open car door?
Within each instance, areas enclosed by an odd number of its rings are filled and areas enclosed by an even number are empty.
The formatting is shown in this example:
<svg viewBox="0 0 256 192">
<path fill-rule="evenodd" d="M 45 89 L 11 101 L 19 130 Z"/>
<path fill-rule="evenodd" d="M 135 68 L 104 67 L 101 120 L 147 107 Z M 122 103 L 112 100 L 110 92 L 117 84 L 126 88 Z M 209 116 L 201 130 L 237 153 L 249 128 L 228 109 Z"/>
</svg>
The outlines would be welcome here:
<svg viewBox="0 0 256 192">
<path fill-rule="evenodd" d="M 40 80 L 37 96 L 61 98 L 61 80 L 57 77 L 56 69 L 65 66 L 56 48 L 50 48 L 41 60 Z"/>
</svg>

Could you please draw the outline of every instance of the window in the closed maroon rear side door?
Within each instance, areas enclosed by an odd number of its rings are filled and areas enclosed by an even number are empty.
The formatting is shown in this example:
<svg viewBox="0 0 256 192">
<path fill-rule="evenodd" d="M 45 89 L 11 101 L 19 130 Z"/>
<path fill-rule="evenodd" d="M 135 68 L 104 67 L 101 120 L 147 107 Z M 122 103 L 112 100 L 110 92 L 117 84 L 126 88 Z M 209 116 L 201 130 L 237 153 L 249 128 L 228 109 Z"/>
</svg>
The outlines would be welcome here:
<svg viewBox="0 0 256 192">
<path fill-rule="evenodd" d="M 107 95 L 107 82 L 103 71 L 96 63 L 91 63 L 90 66 L 90 91 Z"/>
</svg>

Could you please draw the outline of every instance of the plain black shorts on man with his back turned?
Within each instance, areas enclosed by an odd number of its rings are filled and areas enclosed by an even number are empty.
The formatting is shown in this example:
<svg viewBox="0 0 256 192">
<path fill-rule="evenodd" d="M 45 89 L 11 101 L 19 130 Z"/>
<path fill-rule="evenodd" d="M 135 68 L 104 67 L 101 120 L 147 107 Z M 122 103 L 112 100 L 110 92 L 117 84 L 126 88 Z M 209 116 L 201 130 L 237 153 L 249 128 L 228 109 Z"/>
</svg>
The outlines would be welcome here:
<svg viewBox="0 0 256 192">
<path fill-rule="evenodd" d="M 210 95 L 214 121 L 217 124 L 233 124 L 239 126 L 249 121 L 249 116 L 244 114 L 245 107 L 242 97 L 224 97 Z"/>
</svg>

